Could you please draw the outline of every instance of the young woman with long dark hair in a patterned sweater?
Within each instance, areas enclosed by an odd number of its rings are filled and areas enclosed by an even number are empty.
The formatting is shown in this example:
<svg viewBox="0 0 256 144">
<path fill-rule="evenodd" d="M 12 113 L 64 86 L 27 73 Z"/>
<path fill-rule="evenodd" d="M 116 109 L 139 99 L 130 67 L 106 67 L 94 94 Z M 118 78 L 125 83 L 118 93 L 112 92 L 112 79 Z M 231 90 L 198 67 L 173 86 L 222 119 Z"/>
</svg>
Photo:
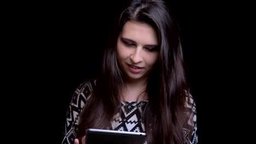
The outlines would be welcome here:
<svg viewBox="0 0 256 144">
<path fill-rule="evenodd" d="M 88 128 L 144 132 L 147 143 L 197 143 L 178 23 L 165 3 L 132 1 L 113 42 L 101 75 L 74 92 L 62 143 L 84 142 Z"/>
</svg>

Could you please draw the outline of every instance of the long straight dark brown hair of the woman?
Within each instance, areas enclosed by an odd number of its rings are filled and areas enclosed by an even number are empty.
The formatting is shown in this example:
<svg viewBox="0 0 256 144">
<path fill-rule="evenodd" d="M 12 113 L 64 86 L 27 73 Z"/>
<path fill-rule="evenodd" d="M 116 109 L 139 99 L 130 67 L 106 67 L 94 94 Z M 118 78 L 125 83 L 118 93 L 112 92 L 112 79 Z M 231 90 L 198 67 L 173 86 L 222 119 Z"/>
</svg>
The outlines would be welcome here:
<svg viewBox="0 0 256 144">
<path fill-rule="evenodd" d="M 185 110 L 188 86 L 183 69 L 183 55 L 178 22 L 172 19 L 165 2 L 132 1 L 120 16 L 118 33 L 103 56 L 102 73 L 96 88 L 80 115 L 78 138 L 85 129 L 107 129 L 115 113 L 120 112 L 123 78 L 116 57 L 119 33 L 126 21 L 148 23 L 158 34 L 159 61 L 148 77 L 148 105 L 143 113 L 148 143 L 182 143 L 190 113 Z M 188 134 L 189 136 L 189 134 Z"/>
</svg>

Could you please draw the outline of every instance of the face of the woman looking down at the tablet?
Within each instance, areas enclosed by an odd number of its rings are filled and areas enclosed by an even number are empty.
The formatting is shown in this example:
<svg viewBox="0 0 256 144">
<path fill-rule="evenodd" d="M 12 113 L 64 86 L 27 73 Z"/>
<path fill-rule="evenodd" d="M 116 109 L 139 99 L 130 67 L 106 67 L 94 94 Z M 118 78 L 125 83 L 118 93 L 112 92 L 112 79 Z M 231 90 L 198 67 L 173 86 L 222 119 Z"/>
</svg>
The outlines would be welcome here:
<svg viewBox="0 0 256 144">
<path fill-rule="evenodd" d="M 117 41 L 117 59 L 126 78 L 147 79 L 158 57 L 158 37 L 154 28 L 146 23 L 127 21 Z"/>
</svg>

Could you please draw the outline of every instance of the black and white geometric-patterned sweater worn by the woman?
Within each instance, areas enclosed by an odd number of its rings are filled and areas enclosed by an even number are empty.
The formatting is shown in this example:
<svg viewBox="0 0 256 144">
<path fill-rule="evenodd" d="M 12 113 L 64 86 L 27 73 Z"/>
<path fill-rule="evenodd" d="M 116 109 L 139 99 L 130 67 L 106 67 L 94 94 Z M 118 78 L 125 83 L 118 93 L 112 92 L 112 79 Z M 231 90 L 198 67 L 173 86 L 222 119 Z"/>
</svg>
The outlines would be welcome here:
<svg viewBox="0 0 256 144">
<path fill-rule="evenodd" d="M 96 80 L 85 81 L 82 83 L 74 92 L 72 101 L 68 107 L 65 133 L 63 135 L 62 144 L 73 144 L 74 139 L 77 136 L 76 130 L 78 129 L 78 123 L 80 118 L 80 112 L 82 112 L 86 101 L 91 97 L 93 88 L 96 85 Z M 197 125 L 196 125 L 196 108 L 193 97 L 187 94 L 187 109 L 193 109 L 193 117 L 190 118 L 194 121 L 193 136 L 191 140 L 187 138 L 188 131 L 184 129 L 184 144 L 195 144 L 197 143 Z M 189 100 L 190 99 L 190 100 Z M 147 105 L 148 101 L 121 101 L 121 115 L 118 113 L 114 116 L 114 121 L 111 122 L 109 129 L 119 131 L 133 131 L 133 132 L 144 132 L 144 123 L 142 121 L 142 113 Z M 193 122 L 188 122 L 193 123 Z"/>
</svg>

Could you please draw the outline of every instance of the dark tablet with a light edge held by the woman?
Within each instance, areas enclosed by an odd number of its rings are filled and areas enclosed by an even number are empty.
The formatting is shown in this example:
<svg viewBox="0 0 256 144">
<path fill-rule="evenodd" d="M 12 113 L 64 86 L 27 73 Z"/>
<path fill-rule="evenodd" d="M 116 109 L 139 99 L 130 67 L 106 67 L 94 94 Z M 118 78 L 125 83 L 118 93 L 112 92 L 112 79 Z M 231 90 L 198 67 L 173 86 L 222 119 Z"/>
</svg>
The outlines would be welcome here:
<svg viewBox="0 0 256 144">
<path fill-rule="evenodd" d="M 87 129 L 85 135 L 86 144 L 143 144 L 146 140 L 146 133 L 117 130 Z"/>
</svg>

